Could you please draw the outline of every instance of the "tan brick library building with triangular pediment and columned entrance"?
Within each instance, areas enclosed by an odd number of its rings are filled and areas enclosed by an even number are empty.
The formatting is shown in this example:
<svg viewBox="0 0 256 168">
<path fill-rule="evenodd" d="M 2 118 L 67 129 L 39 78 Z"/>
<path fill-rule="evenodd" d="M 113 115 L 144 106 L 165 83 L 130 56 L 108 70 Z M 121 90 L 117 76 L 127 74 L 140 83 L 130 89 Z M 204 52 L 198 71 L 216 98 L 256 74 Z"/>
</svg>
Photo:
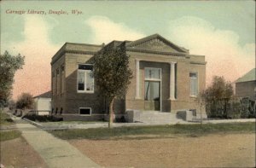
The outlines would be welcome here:
<svg viewBox="0 0 256 168">
<path fill-rule="evenodd" d="M 125 45 L 132 71 L 125 98 L 114 101 L 116 119 L 135 121 L 139 113 L 150 113 L 154 119 L 156 114 L 175 116 L 180 111 L 190 111 L 195 118 L 200 117 L 201 107 L 195 99 L 200 90 L 205 89 L 205 56 L 190 55 L 189 49 L 159 34 L 106 45 L 65 43 L 51 61 L 53 114 L 69 120 L 108 118 L 108 97 L 102 97 L 97 90 L 92 75 L 93 62 L 90 62 L 107 45 L 113 48 Z M 205 107 L 202 113 L 206 117 Z"/>
</svg>

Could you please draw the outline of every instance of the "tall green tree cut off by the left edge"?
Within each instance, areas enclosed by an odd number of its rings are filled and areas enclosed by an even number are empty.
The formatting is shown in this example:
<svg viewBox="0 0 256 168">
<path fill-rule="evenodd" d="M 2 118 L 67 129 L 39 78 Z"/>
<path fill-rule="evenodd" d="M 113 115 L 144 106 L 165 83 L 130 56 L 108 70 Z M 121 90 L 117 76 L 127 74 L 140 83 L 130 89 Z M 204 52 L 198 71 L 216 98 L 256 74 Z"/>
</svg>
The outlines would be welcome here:
<svg viewBox="0 0 256 168">
<path fill-rule="evenodd" d="M 24 56 L 9 55 L 5 51 L 0 55 L 0 107 L 6 106 L 11 95 L 12 84 L 14 83 L 15 72 L 24 65 Z"/>
</svg>

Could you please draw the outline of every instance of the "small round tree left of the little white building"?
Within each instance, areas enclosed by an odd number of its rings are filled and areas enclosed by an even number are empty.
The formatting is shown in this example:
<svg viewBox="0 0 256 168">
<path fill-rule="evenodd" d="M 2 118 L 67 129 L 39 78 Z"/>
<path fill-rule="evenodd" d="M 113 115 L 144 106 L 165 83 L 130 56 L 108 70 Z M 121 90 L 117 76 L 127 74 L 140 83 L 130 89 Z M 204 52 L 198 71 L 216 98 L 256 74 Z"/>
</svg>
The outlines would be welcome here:
<svg viewBox="0 0 256 168">
<path fill-rule="evenodd" d="M 31 109 L 33 103 L 33 97 L 30 93 L 22 93 L 20 96 L 18 96 L 16 107 L 20 109 Z"/>
</svg>

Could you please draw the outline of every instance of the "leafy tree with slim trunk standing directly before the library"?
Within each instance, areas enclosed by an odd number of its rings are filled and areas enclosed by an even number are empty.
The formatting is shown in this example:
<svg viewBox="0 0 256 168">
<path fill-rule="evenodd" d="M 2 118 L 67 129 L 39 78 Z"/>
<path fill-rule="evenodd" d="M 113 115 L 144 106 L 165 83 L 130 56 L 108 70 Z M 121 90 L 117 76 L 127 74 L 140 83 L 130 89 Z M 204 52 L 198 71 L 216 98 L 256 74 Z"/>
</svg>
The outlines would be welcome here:
<svg viewBox="0 0 256 168">
<path fill-rule="evenodd" d="M 111 128 L 113 123 L 113 101 L 125 96 L 132 78 L 129 56 L 126 55 L 125 45 L 114 48 L 108 44 L 94 56 L 93 62 L 93 75 L 99 93 L 109 99 L 108 127 Z"/>
</svg>

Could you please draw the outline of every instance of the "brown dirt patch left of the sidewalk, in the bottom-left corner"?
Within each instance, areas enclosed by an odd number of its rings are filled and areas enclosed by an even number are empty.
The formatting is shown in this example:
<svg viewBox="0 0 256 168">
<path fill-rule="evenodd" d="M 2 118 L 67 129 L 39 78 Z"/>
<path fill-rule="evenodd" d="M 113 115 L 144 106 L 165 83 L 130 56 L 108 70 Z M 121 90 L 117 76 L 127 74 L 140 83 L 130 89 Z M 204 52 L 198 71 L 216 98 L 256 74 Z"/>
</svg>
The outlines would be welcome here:
<svg viewBox="0 0 256 168">
<path fill-rule="evenodd" d="M 46 168 L 38 153 L 23 137 L 1 142 L 0 162 L 5 167 L 37 167 Z"/>
</svg>

